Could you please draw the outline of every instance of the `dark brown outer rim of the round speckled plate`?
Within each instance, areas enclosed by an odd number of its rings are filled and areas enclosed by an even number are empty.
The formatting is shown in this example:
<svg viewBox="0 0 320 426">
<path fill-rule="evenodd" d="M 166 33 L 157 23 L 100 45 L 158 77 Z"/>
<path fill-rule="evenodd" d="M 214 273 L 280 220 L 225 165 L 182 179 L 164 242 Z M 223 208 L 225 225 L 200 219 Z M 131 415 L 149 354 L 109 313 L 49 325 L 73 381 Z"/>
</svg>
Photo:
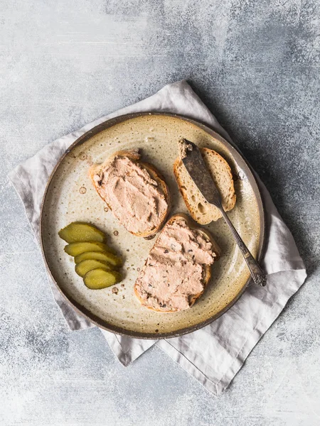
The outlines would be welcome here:
<svg viewBox="0 0 320 426">
<path fill-rule="evenodd" d="M 48 189 L 50 187 L 50 182 L 53 180 L 53 176 L 55 175 L 55 172 L 58 170 L 58 167 L 60 166 L 60 163 L 63 161 L 66 155 L 70 153 L 70 151 L 75 148 L 75 146 L 80 146 L 82 143 L 85 143 L 85 141 L 92 138 L 92 136 L 97 135 L 101 131 L 104 131 L 106 129 L 109 129 L 112 126 L 115 126 L 116 124 L 121 123 L 122 121 L 127 121 L 129 119 L 135 119 L 139 116 L 169 116 L 174 117 L 176 119 L 181 119 L 183 121 L 188 121 L 191 124 L 194 124 L 195 126 L 200 127 L 204 131 L 210 134 L 210 136 L 213 136 L 215 138 L 219 138 L 220 142 L 223 143 L 223 145 L 228 149 L 228 151 L 233 155 L 233 153 L 236 153 L 236 155 L 240 155 L 240 159 L 243 161 L 245 166 L 248 169 L 248 175 L 247 178 L 250 182 L 250 186 L 252 187 L 253 193 L 255 195 L 255 198 L 257 200 L 257 207 L 259 210 L 259 216 L 260 216 L 260 239 L 259 239 L 259 246 L 257 251 L 257 261 L 260 261 L 262 258 L 263 253 L 265 252 L 265 237 L 266 237 L 266 212 L 265 212 L 265 204 L 262 200 L 260 187 L 257 182 L 257 178 L 255 177 L 255 172 L 252 169 L 250 163 L 248 163 L 245 156 L 241 153 L 238 146 L 235 146 L 233 142 L 227 141 L 223 136 L 220 135 L 217 131 L 212 129 L 208 124 L 203 123 L 200 120 L 193 119 L 188 116 L 183 116 L 181 114 L 174 114 L 170 112 L 164 112 L 164 111 L 142 111 L 142 112 L 135 112 L 130 114 L 123 114 L 120 116 L 113 117 L 111 119 L 107 119 L 105 121 L 102 121 L 102 123 L 97 124 L 97 126 L 92 127 L 92 129 L 86 131 L 83 133 L 79 138 L 77 138 L 63 153 L 63 155 L 60 156 L 59 160 L 55 164 L 55 167 L 53 168 L 52 172 L 50 173 L 50 177 L 48 178 L 48 182 L 46 183 L 46 188 L 43 193 L 43 199 L 41 202 L 41 212 L 40 212 L 40 221 L 39 221 L 39 236 L 40 236 L 40 245 L 41 245 L 41 253 L 43 257 L 43 261 L 46 266 L 46 270 L 48 271 L 48 275 L 50 276 L 51 280 L 53 281 L 55 288 L 58 289 L 60 295 L 63 296 L 65 302 L 68 303 L 68 305 L 75 310 L 78 314 L 80 314 L 82 317 L 84 317 L 87 321 L 92 322 L 97 327 L 100 327 L 102 329 L 107 330 L 108 332 L 112 332 L 115 334 L 119 334 L 121 336 L 128 336 L 128 337 L 134 337 L 138 339 L 168 339 L 171 337 L 179 337 L 183 334 L 188 334 L 191 332 L 195 332 L 198 329 L 201 329 L 203 327 L 206 327 L 206 325 L 211 324 L 213 321 L 217 320 L 219 317 L 221 317 L 225 312 L 227 312 L 230 307 L 235 305 L 235 303 L 240 299 L 240 297 L 245 293 L 245 290 L 247 290 L 247 287 L 250 283 L 251 278 L 249 277 L 245 285 L 242 287 L 238 295 L 236 295 L 233 300 L 231 300 L 228 305 L 226 305 L 223 310 L 218 312 L 217 314 L 213 315 L 212 317 L 208 318 L 208 320 L 199 322 L 198 324 L 194 324 L 190 327 L 184 327 L 183 329 L 178 329 L 173 332 L 164 332 L 164 333 L 143 333 L 143 332 L 135 332 L 132 330 L 127 330 L 122 327 L 114 326 L 113 324 L 110 324 L 109 322 L 102 320 L 102 318 L 97 317 L 97 315 L 93 314 L 90 310 L 87 310 L 86 307 L 78 303 L 76 300 L 73 299 L 70 295 L 66 294 L 62 288 L 60 288 L 60 285 L 58 285 L 58 282 L 53 277 L 53 274 L 50 271 L 50 266 L 48 264 L 47 258 L 46 258 L 46 252 L 44 249 L 44 243 L 43 243 L 43 210 L 46 203 L 46 197 L 48 195 Z"/>
</svg>

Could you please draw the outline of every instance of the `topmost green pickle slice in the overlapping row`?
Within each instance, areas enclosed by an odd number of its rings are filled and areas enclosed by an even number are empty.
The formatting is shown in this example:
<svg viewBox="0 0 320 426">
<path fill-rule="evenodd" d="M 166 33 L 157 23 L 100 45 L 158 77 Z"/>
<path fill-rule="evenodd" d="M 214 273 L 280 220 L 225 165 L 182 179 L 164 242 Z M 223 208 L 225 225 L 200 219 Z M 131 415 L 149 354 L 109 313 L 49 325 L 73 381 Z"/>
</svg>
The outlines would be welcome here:
<svg viewBox="0 0 320 426">
<path fill-rule="evenodd" d="M 100 229 L 84 222 L 72 222 L 65 228 L 60 229 L 58 234 L 68 244 L 80 241 L 99 241 L 103 243 L 106 239 L 105 234 Z"/>
</svg>

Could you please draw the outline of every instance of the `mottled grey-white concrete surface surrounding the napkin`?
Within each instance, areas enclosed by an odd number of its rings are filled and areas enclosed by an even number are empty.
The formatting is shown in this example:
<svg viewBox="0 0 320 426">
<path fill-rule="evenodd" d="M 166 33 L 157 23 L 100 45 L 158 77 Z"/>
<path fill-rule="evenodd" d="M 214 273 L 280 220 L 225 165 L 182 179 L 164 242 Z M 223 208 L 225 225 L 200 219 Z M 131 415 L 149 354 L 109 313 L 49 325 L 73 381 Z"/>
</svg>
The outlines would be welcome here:
<svg viewBox="0 0 320 426">
<path fill-rule="evenodd" d="M 320 425 L 319 0 L 0 0 L 0 425 Z M 69 332 L 6 174 L 187 78 L 292 230 L 306 284 L 214 398 L 160 349 Z M 213 354 L 214 356 L 214 354 Z"/>
</svg>

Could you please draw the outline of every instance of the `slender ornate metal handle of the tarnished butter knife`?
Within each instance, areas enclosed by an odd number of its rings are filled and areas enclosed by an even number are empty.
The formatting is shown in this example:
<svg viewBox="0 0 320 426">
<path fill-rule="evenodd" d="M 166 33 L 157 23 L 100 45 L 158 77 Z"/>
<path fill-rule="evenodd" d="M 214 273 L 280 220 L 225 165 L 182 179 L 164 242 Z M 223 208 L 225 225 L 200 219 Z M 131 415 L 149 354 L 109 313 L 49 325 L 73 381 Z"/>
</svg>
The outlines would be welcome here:
<svg viewBox="0 0 320 426">
<path fill-rule="evenodd" d="M 231 232 L 233 233 L 233 236 L 235 237 L 235 241 L 237 241 L 239 249 L 243 257 L 245 258 L 245 261 L 247 262 L 247 266 L 250 269 L 250 273 L 255 284 L 265 287 L 265 285 L 267 284 L 267 278 L 265 273 L 262 271 L 262 268 L 260 268 L 257 261 L 255 261 L 255 258 L 252 256 L 249 249 L 243 242 L 242 238 L 240 237 L 237 230 L 235 229 L 235 226 L 233 226 L 232 222 L 228 218 L 228 215 L 225 213 L 225 210 L 223 209 L 222 204 L 217 203 L 216 206 L 218 207 L 218 209 L 220 209 L 220 212 L 223 215 L 223 219 L 225 219 L 225 222 L 227 222 Z"/>
</svg>

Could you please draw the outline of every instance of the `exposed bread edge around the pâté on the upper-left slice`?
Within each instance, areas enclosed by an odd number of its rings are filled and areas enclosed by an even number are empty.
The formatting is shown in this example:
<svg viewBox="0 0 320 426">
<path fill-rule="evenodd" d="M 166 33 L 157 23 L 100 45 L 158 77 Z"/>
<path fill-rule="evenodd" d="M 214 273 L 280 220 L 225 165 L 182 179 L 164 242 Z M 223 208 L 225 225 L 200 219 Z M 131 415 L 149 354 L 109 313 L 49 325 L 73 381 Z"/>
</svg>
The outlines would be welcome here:
<svg viewBox="0 0 320 426">
<path fill-rule="evenodd" d="M 153 236 L 154 234 L 159 232 L 159 230 L 161 229 L 161 227 L 163 226 L 166 220 L 167 214 L 170 211 L 170 208 L 171 208 L 170 193 L 169 193 L 169 188 L 166 185 L 166 182 L 164 181 L 164 178 L 161 176 L 159 171 L 154 167 L 154 165 L 151 165 L 149 163 L 144 163 L 140 160 L 140 154 L 138 150 L 117 151 L 116 153 L 112 154 L 110 158 L 107 158 L 107 160 L 105 160 L 102 164 L 92 165 L 89 170 L 90 178 L 95 187 L 95 190 L 97 190 L 97 193 L 100 195 L 102 200 L 106 202 L 104 194 L 100 186 L 97 185 L 97 182 L 94 179 L 94 176 L 100 175 L 100 173 L 103 173 L 103 171 L 108 167 L 108 165 L 112 163 L 112 160 L 114 160 L 114 158 L 121 157 L 121 156 L 129 158 L 129 160 L 132 160 L 132 162 L 139 164 L 140 168 L 146 170 L 146 172 L 149 174 L 151 179 L 153 179 L 159 185 L 159 192 L 164 196 L 164 200 L 166 200 L 167 208 L 166 208 L 166 211 L 161 215 L 161 217 L 159 217 L 158 226 L 150 227 L 150 226 L 147 226 L 148 224 L 146 224 L 146 228 L 143 231 L 139 231 L 139 232 L 133 232 L 128 229 L 128 231 L 131 232 L 131 234 L 134 234 L 136 236 L 142 236 L 144 238 Z M 112 205 L 108 204 L 107 202 L 106 204 L 107 204 L 107 207 L 112 211 Z M 122 225 L 127 229 L 126 223 L 122 223 Z"/>
</svg>

